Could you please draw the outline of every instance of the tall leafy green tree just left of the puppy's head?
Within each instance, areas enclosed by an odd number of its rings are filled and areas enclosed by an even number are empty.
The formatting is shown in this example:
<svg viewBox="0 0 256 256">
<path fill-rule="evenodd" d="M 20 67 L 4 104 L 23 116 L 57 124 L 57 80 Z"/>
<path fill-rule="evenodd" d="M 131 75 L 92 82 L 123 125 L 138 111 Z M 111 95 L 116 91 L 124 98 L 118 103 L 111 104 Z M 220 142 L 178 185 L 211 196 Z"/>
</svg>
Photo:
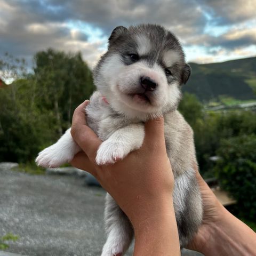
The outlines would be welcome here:
<svg viewBox="0 0 256 256">
<path fill-rule="evenodd" d="M 61 135 L 70 126 L 74 109 L 94 90 L 91 70 L 81 53 L 49 49 L 38 52 L 34 59 L 37 103 L 54 111 L 55 129 Z"/>
</svg>

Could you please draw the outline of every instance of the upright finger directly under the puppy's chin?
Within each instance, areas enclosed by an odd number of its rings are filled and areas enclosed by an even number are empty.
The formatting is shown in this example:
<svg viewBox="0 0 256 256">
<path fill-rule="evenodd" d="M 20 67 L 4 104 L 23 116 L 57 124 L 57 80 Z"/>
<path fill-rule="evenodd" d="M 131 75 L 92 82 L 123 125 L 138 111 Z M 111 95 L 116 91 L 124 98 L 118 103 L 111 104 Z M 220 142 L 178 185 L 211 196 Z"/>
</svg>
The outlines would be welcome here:
<svg viewBox="0 0 256 256">
<path fill-rule="evenodd" d="M 165 149 L 163 117 L 158 117 L 145 123 L 145 139 L 143 145 L 149 148 L 164 147 Z"/>
</svg>

